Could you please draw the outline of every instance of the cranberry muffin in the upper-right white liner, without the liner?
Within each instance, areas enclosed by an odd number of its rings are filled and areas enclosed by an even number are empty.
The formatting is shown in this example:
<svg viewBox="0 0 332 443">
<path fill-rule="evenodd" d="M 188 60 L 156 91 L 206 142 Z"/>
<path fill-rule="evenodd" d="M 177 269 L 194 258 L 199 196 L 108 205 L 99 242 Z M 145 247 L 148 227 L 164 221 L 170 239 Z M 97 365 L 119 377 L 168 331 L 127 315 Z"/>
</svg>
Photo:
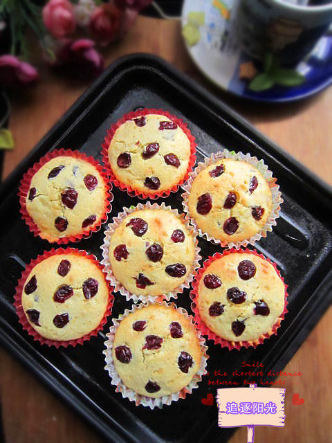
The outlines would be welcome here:
<svg viewBox="0 0 332 443">
<path fill-rule="evenodd" d="M 241 242 L 264 227 L 273 198 L 266 179 L 255 166 L 222 159 L 194 178 L 188 208 L 203 233 L 221 242 Z"/>
</svg>

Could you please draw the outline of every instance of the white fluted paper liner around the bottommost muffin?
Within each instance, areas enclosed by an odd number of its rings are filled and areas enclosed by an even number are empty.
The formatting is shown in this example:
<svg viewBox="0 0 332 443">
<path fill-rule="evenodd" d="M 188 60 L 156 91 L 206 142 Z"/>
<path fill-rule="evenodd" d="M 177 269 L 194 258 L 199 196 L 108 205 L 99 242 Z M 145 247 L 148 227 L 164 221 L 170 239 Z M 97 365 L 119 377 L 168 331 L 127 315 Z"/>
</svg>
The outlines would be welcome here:
<svg viewBox="0 0 332 443">
<path fill-rule="evenodd" d="M 176 311 L 183 314 L 186 318 L 190 319 L 190 323 L 193 325 L 196 331 L 196 336 L 199 338 L 199 343 L 201 345 L 201 365 L 199 366 L 199 370 L 196 372 L 190 383 L 187 384 L 184 388 L 182 388 L 180 391 L 175 392 L 171 395 L 164 395 L 163 397 L 158 398 L 151 398 L 146 397 L 145 395 L 140 395 L 134 390 L 127 388 L 127 386 L 122 383 L 122 380 L 120 379 L 120 376 L 116 370 L 116 367 L 114 365 L 114 361 L 112 358 L 112 347 L 113 347 L 113 341 L 114 336 L 116 334 L 116 330 L 118 329 L 122 319 L 132 312 L 136 311 L 137 309 L 142 309 L 143 307 L 147 307 L 149 305 L 165 305 L 172 307 Z M 172 403 L 172 401 L 177 401 L 178 399 L 184 399 L 187 394 L 191 394 L 192 390 L 195 388 L 198 388 L 198 383 L 202 380 L 202 377 L 204 374 L 207 373 L 206 371 L 206 363 L 208 361 L 208 354 L 206 353 L 208 350 L 208 346 L 205 345 L 205 338 L 201 335 L 201 332 L 199 329 L 197 329 L 197 326 L 194 324 L 193 317 L 190 316 L 185 309 L 182 307 L 176 307 L 174 303 L 167 303 L 165 301 L 152 303 L 152 302 L 146 302 L 146 303 L 140 303 L 139 305 L 133 305 L 132 309 L 125 309 L 124 314 L 120 315 L 118 318 L 113 318 L 113 326 L 110 327 L 109 333 L 106 334 L 108 337 L 108 340 L 105 341 L 104 345 L 106 346 L 106 350 L 102 351 L 105 355 L 105 361 L 106 366 L 104 367 L 105 370 L 109 373 L 109 377 L 111 377 L 111 384 L 116 386 L 116 392 L 121 392 L 121 395 L 124 399 L 129 399 L 130 401 L 135 401 L 136 406 L 142 405 L 147 406 L 151 409 L 154 408 L 163 408 L 164 405 L 169 405 Z"/>
</svg>

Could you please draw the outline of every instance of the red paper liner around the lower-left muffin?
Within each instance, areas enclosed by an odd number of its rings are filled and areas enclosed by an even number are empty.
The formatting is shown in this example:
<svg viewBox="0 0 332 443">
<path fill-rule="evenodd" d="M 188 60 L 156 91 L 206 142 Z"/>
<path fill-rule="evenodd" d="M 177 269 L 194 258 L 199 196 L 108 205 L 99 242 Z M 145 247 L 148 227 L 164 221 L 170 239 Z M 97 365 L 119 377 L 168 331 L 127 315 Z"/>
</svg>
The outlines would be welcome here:
<svg viewBox="0 0 332 443">
<path fill-rule="evenodd" d="M 93 331 L 89 332 L 89 334 L 85 334 L 84 336 L 77 338 L 75 340 L 68 340 L 68 341 L 56 341 L 56 340 L 50 340 L 49 338 L 44 338 L 42 335 L 38 334 L 38 332 L 33 329 L 33 327 L 28 322 L 28 319 L 26 318 L 26 314 L 24 312 L 22 302 L 21 302 L 21 296 L 24 289 L 24 284 L 26 282 L 26 279 L 28 278 L 29 273 L 32 271 L 32 269 L 40 262 L 45 260 L 48 257 L 51 257 L 52 255 L 61 255 L 61 254 L 73 254 L 77 255 L 79 257 L 86 257 L 91 262 L 95 264 L 95 266 L 98 266 L 98 269 L 102 271 L 102 275 L 104 275 L 104 281 L 107 284 L 107 287 L 109 289 L 109 301 L 107 303 L 107 308 L 104 312 L 104 316 L 102 317 L 102 320 L 100 321 L 100 324 L 98 327 L 93 329 Z M 100 262 L 98 262 L 97 257 L 92 254 L 88 254 L 86 251 L 78 250 L 75 248 L 58 248 L 58 249 L 51 249 L 50 251 L 44 251 L 42 255 L 38 255 L 34 260 L 31 260 L 31 262 L 26 266 L 26 269 L 23 271 L 21 278 L 19 278 L 19 282 L 17 283 L 17 287 L 15 288 L 15 296 L 14 296 L 14 306 L 16 308 L 16 314 L 19 317 L 19 323 L 23 326 L 23 329 L 28 332 L 30 336 L 33 336 L 33 339 L 35 341 L 39 341 L 42 345 L 48 345 L 48 346 L 55 346 L 55 347 L 67 347 L 69 345 L 76 346 L 77 344 L 82 345 L 84 341 L 90 340 L 92 336 L 96 336 L 100 330 L 104 327 L 105 323 L 107 322 L 107 317 L 111 315 L 112 307 L 113 307 L 113 301 L 114 297 L 111 291 L 113 288 L 111 287 L 111 284 L 106 279 L 106 276 L 104 274 L 102 265 Z"/>
</svg>

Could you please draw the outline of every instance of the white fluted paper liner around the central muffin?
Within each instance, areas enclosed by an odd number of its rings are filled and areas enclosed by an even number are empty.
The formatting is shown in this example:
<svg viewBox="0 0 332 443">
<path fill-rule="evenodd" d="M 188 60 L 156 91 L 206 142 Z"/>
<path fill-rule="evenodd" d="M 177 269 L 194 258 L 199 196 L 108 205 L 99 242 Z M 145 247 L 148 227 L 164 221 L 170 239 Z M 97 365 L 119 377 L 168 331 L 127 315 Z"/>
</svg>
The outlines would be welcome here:
<svg viewBox="0 0 332 443">
<path fill-rule="evenodd" d="M 111 242 L 111 237 L 120 226 L 120 223 L 122 220 L 127 217 L 127 215 L 134 213 L 136 210 L 142 210 L 142 209 L 163 209 L 163 210 L 169 210 L 171 213 L 176 215 L 176 217 L 179 217 L 183 223 L 185 224 L 185 227 L 187 230 L 192 234 L 194 238 L 194 248 L 195 248 L 195 256 L 194 261 L 192 262 L 192 269 L 190 270 L 190 273 L 187 275 L 187 278 L 185 281 L 176 289 L 173 291 L 169 291 L 166 294 L 160 294 L 160 296 L 144 296 L 140 294 L 135 294 L 129 292 L 116 278 L 116 276 L 113 274 L 111 263 L 109 262 L 109 243 Z M 190 282 L 192 282 L 194 278 L 194 272 L 199 269 L 199 260 L 201 260 L 201 255 L 199 254 L 201 251 L 201 248 L 198 246 L 199 242 L 196 238 L 196 233 L 192 226 L 190 226 L 189 221 L 187 221 L 183 214 L 179 214 L 178 210 L 172 209 L 170 206 L 166 206 L 164 203 L 158 205 L 156 203 L 151 204 L 149 201 L 147 201 L 146 204 L 139 203 L 137 206 L 130 208 L 123 208 L 123 212 L 119 213 L 117 217 L 113 218 L 113 221 L 108 225 L 107 230 L 105 230 L 105 237 L 104 237 L 104 243 L 102 244 L 102 261 L 101 263 L 104 265 L 104 272 L 107 275 L 107 280 L 111 282 L 112 286 L 114 286 L 114 291 L 119 291 L 122 296 L 125 296 L 127 300 L 133 300 L 133 302 L 137 303 L 140 301 L 150 301 L 150 302 L 156 302 L 161 300 L 169 300 L 170 298 L 178 298 L 178 293 L 182 293 L 183 289 L 190 288 Z"/>
</svg>

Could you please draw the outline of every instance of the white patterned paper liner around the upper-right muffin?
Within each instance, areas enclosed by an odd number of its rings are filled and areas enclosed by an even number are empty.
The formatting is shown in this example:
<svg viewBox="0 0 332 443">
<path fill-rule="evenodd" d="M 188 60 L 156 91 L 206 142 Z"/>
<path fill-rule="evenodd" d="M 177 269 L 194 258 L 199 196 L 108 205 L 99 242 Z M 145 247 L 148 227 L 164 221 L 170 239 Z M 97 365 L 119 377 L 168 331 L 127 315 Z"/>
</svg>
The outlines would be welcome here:
<svg viewBox="0 0 332 443">
<path fill-rule="evenodd" d="M 188 207 L 188 197 L 190 195 L 190 190 L 192 188 L 192 182 L 194 181 L 194 179 L 203 169 L 208 168 L 208 166 L 216 163 L 216 161 L 219 161 L 221 159 L 246 161 L 247 163 L 255 166 L 255 168 L 257 168 L 259 172 L 261 172 L 264 179 L 266 179 L 266 182 L 268 183 L 268 186 L 272 193 L 272 209 L 270 215 L 268 216 L 268 219 L 266 220 L 266 224 L 264 224 L 264 226 L 259 230 L 258 233 L 252 235 L 252 237 L 250 237 L 249 239 L 244 239 L 239 242 L 221 241 L 220 239 L 216 239 L 208 235 L 208 233 L 203 232 L 203 230 L 201 230 L 201 228 L 197 226 L 194 218 L 190 216 L 190 210 Z M 279 185 L 277 185 L 277 179 L 273 177 L 272 172 L 268 170 L 268 167 L 263 160 L 258 160 L 257 157 L 252 157 L 250 156 L 250 154 L 243 154 L 242 152 L 236 153 L 234 151 L 230 152 L 228 150 L 216 152 L 205 159 L 203 163 L 199 163 L 194 171 L 190 173 L 190 177 L 187 180 L 187 183 L 185 183 L 181 187 L 183 188 L 183 190 L 185 190 L 185 192 L 183 192 L 183 194 L 181 195 L 181 197 L 183 197 L 183 210 L 185 211 L 185 219 L 190 221 L 190 224 L 194 226 L 195 230 L 199 233 L 201 237 L 205 237 L 210 242 L 220 244 L 223 248 L 228 247 L 239 249 L 241 246 L 248 246 L 248 244 L 251 244 L 253 246 L 255 242 L 261 239 L 261 237 L 266 237 L 267 233 L 270 232 L 273 229 L 273 226 L 277 224 L 276 220 L 279 217 L 280 205 L 284 201 L 282 199 L 282 193 L 279 191 Z"/>
</svg>

